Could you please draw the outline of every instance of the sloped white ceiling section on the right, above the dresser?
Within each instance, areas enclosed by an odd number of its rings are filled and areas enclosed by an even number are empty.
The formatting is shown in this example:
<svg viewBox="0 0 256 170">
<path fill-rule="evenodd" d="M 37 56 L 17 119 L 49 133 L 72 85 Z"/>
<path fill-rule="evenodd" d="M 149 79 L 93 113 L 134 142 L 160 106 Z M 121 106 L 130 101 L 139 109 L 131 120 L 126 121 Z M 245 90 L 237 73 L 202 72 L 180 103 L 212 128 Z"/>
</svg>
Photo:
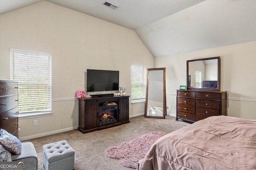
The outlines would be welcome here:
<svg viewBox="0 0 256 170">
<path fill-rule="evenodd" d="M 256 41 L 256 0 L 206 0 L 136 33 L 154 57 Z"/>
</svg>

